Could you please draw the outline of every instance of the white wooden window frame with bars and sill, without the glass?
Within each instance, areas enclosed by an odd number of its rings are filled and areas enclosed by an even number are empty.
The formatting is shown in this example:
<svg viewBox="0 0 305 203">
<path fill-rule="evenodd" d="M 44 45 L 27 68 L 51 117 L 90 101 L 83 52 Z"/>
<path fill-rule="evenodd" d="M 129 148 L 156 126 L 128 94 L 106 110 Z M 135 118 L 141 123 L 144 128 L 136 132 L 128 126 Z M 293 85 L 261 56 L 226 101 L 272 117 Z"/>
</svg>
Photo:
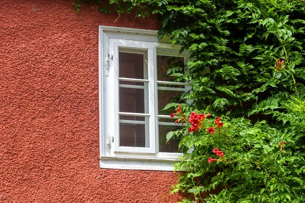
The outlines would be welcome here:
<svg viewBox="0 0 305 203">
<path fill-rule="evenodd" d="M 129 170 L 156 170 L 173 171 L 174 163 L 178 161 L 181 153 L 159 152 L 158 144 L 158 118 L 169 118 L 169 115 L 158 115 L 157 84 L 164 84 L 164 81 L 157 81 L 157 48 L 158 54 L 184 57 L 185 62 L 189 57 L 188 52 L 178 54 L 181 46 L 167 44 L 168 39 L 158 40 L 156 30 L 99 26 L 99 108 L 100 108 L 100 167 Z M 147 50 L 148 63 L 148 109 L 149 114 L 149 145 L 143 147 L 120 147 L 118 145 L 119 114 L 118 110 L 118 48 L 130 48 Z M 167 83 L 167 82 L 165 82 Z M 185 85 L 185 90 L 190 89 L 190 84 Z M 159 88 L 160 89 L 160 88 Z M 162 88 L 161 88 L 162 89 Z M 174 88 L 175 89 L 175 88 Z M 180 89 L 180 88 L 176 88 Z M 181 89 L 180 89 L 181 90 Z M 151 93 L 153 92 L 153 93 Z M 113 101 L 116 100 L 117 103 Z M 157 108 L 156 108 L 157 107 Z M 130 115 L 137 115 L 131 113 Z M 166 124 L 166 123 L 164 123 Z M 168 124 L 168 125 L 175 125 Z M 147 139 L 146 139 L 147 140 Z M 116 141 L 116 142 L 115 142 Z"/>
</svg>

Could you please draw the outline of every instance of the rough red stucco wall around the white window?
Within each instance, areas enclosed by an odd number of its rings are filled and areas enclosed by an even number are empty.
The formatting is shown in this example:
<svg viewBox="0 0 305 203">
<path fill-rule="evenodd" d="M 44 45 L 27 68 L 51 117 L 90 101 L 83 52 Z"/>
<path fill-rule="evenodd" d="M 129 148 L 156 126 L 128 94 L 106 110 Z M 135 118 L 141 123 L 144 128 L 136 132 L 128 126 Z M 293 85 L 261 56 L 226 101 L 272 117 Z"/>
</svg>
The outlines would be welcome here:
<svg viewBox="0 0 305 203">
<path fill-rule="evenodd" d="M 99 167 L 98 25 L 158 29 L 71 1 L 2 0 L 0 202 L 176 202 L 172 172 Z"/>
</svg>

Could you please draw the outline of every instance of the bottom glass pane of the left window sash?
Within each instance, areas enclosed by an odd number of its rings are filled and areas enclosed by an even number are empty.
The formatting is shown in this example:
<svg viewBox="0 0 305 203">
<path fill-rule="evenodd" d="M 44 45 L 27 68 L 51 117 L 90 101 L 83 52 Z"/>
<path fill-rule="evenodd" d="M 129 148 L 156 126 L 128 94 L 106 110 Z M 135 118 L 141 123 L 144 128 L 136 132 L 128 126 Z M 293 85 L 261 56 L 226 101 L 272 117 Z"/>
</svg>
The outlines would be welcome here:
<svg viewBox="0 0 305 203">
<path fill-rule="evenodd" d="M 119 122 L 119 146 L 149 147 L 148 140 L 146 140 L 145 136 L 145 131 L 148 129 L 148 118 L 140 116 L 120 116 Z"/>
</svg>

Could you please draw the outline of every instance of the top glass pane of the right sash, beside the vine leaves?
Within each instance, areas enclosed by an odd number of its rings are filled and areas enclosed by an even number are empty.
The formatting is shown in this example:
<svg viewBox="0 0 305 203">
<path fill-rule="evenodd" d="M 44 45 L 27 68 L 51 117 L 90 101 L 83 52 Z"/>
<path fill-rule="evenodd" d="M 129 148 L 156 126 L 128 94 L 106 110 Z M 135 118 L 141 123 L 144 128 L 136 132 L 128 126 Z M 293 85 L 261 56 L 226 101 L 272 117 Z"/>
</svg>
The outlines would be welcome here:
<svg viewBox="0 0 305 203">
<path fill-rule="evenodd" d="M 175 73 L 184 73 L 184 57 L 157 55 L 158 80 L 174 81 L 175 77 L 166 76 L 167 71 L 172 68 Z"/>
</svg>

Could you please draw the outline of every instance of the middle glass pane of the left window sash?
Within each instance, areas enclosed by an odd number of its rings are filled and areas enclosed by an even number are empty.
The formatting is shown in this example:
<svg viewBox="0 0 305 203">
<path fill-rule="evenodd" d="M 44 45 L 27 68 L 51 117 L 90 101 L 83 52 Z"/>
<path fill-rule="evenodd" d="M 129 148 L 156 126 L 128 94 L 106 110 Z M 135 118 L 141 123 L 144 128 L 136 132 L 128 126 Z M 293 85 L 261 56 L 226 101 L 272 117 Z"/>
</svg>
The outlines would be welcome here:
<svg viewBox="0 0 305 203">
<path fill-rule="evenodd" d="M 145 113 L 144 89 L 119 88 L 119 111 Z"/>
</svg>

